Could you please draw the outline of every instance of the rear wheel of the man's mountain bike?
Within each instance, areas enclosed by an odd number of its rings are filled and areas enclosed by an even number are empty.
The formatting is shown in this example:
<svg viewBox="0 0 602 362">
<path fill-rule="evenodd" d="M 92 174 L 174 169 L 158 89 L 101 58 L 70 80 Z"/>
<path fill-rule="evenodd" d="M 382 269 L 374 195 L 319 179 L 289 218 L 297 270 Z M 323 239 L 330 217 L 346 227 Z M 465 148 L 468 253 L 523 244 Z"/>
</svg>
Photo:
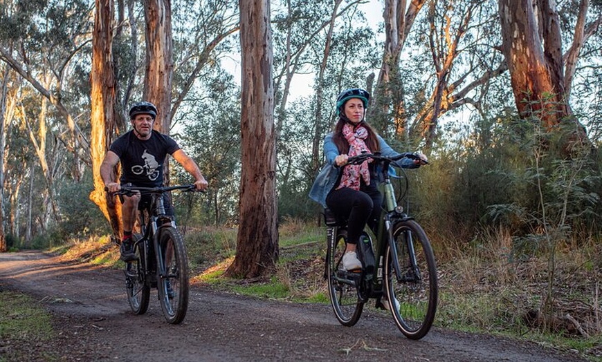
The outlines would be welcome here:
<svg viewBox="0 0 602 362">
<path fill-rule="evenodd" d="M 139 236 L 134 236 L 139 240 Z M 145 281 L 144 242 L 134 242 L 136 260 L 125 264 L 125 289 L 129 307 L 135 314 L 145 314 L 148 309 L 150 287 Z"/>
</svg>

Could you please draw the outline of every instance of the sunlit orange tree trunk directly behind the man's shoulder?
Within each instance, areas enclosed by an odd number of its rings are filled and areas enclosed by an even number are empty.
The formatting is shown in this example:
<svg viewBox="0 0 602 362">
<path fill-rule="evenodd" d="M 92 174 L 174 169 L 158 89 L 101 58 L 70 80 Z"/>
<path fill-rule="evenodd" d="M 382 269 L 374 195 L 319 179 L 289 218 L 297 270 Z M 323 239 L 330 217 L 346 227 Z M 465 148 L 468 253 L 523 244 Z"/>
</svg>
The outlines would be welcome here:
<svg viewBox="0 0 602 362">
<path fill-rule="evenodd" d="M 109 221 L 113 237 L 118 239 L 122 229 L 121 208 L 116 198 L 104 192 L 104 182 L 100 177 L 100 164 L 109 149 L 118 120 L 115 111 L 115 73 L 112 51 L 113 6 L 113 0 L 96 0 L 91 70 L 91 158 L 94 190 L 89 197 L 98 205 L 104 217 Z M 113 171 L 116 176 L 118 169 Z"/>
</svg>

